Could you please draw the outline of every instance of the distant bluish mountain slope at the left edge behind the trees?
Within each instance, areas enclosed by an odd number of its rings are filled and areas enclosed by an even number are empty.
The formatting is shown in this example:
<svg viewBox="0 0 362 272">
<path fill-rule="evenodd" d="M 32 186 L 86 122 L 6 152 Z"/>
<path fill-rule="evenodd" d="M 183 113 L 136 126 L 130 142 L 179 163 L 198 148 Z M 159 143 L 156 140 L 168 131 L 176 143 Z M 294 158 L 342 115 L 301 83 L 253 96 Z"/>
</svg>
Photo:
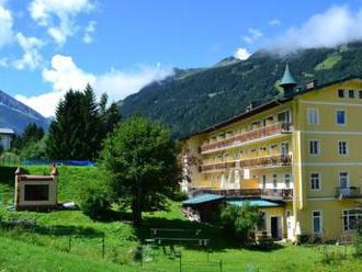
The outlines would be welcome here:
<svg viewBox="0 0 362 272">
<path fill-rule="evenodd" d="M 46 129 L 49 121 L 0 90 L 0 127 L 13 128 L 21 133 L 30 123 L 36 123 Z"/>
</svg>

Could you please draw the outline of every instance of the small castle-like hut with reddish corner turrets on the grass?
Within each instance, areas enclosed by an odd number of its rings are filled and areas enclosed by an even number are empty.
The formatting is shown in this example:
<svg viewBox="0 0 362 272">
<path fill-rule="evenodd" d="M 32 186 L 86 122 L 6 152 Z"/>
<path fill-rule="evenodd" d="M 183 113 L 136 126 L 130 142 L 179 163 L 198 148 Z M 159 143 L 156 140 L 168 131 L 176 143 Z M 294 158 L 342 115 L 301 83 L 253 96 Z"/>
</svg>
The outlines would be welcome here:
<svg viewBox="0 0 362 272">
<path fill-rule="evenodd" d="M 58 170 L 53 165 L 49 175 L 23 174 L 21 168 L 15 171 L 15 209 L 48 211 L 58 206 Z"/>
</svg>

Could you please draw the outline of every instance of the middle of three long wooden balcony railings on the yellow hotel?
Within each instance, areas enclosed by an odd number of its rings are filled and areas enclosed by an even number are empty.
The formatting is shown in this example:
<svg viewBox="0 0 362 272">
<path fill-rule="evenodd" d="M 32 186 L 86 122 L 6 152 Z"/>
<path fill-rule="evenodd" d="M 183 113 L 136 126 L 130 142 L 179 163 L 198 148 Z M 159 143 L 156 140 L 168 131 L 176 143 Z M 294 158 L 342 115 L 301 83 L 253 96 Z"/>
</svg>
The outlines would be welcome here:
<svg viewBox="0 0 362 272">
<path fill-rule="evenodd" d="M 244 159 L 230 162 L 219 162 L 213 165 L 202 166 L 201 172 L 208 171 L 224 171 L 229 168 L 257 168 L 257 167 L 276 167 L 276 166 L 290 166 L 292 162 L 291 155 L 271 155 L 251 159 Z"/>
</svg>

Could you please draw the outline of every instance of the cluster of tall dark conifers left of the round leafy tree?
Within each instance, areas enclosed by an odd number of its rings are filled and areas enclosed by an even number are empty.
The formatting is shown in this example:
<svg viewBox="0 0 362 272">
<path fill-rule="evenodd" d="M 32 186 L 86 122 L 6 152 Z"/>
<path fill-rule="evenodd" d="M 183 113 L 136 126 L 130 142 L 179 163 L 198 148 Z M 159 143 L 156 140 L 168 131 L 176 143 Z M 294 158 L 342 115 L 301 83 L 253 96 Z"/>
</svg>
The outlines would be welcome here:
<svg viewBox="0 0 362 272">
<path fill-rule="evenodd" d="M 49 159 L 92 160 L 98 158 L 102 140 L 120 121 L 114 104 L 106 107 L 108 98 L 97 102 L 94 91 L 69 90 L 59 102 L 56 120 L 49 126 L 46 154 Z"/>
</svg>

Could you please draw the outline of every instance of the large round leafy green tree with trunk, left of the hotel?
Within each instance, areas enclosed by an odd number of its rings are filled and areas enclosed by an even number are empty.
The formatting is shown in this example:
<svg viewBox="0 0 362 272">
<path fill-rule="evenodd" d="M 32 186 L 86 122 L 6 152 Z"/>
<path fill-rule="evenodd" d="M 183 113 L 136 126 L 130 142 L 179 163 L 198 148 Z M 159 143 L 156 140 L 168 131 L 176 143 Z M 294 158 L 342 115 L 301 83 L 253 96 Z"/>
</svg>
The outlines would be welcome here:
<svg viewBox="0 0 362 272">
<path fill-rule="evenodd" d="M 177 148 L 170 132 L 145 117 L 121 124 L 105 140 L 101 158 L 113 193 L 131 205 L 136 226 L 144 211 L 163 208 L 178 184 Z"/>
</svg>

